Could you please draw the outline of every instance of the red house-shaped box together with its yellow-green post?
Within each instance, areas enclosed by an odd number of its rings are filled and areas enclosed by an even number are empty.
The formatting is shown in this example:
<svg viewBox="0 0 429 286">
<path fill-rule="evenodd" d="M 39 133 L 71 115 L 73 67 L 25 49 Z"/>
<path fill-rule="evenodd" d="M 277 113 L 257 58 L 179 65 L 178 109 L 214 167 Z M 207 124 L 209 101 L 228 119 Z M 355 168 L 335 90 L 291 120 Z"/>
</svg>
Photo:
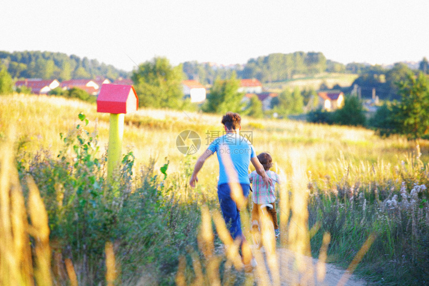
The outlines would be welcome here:
<svg viewBox="0 0 429 286">
<path fill-rule="evenodd" d="M 139 98 L 132 85 L 103 84 L 97 97 L 97 112 L 110 113 L 109 146 L 107 152 L 107 179 L 121 162 L 122 137 L 126 113 L 136 111 Z"/>
</svg>

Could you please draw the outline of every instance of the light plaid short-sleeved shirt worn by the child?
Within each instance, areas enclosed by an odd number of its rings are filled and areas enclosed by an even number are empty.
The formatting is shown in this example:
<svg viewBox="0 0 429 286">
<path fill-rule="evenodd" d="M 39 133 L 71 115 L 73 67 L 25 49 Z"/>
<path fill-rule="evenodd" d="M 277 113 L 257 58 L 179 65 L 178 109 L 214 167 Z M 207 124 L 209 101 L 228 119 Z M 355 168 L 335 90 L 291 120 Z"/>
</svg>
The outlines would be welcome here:
<svg viewBox="0 0 429 286">
<path fill-rule="evenodd" d="M 273 184 L 268 188 L 265 186 L 264 181 L 262 181 L 262 177 L 259 176 L 256 171 L 253 171 L 249 174 L 250 183 L 252 183 L 252 201 L 255 204 L 263 205 L 263 204 L 271 204 L 275 202 L 275 193 L 274 193 L 274 185 L 277 182 L 280 184 L 279 177 L 273 171 L 265 171 L 268 177 L 271 178 Z"/>
</svg>

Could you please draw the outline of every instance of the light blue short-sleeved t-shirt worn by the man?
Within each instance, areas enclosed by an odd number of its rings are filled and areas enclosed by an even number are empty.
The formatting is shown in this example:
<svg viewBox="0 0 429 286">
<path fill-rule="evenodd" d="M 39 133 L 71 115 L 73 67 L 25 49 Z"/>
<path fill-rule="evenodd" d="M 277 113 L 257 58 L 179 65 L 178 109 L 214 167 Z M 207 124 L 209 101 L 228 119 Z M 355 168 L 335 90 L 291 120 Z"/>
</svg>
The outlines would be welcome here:
<svg viewBox="0 0 429 286">
<path fill-rule="evenodd" d="M 217 137 L 209 145 L 208 148 L 213 153 L 216 152 L 217 161 L 219 161 L 219 181 L 218 185 L 234 182 L 234 178 L 238 178 L 240 184 L 250 184 L 248 177 L 248 169 L 250 158 L 256 157 L 255 149 L 252 143 L 247 138 L 240 136 L 237 133 L 227 133 L 223 136 Z M 226 156 L 225 156 L 226 155 Z M 236 176 L 228 179 L 225 170 L 225 162 L 232 161 L 233 170 Z"/>
</svg>

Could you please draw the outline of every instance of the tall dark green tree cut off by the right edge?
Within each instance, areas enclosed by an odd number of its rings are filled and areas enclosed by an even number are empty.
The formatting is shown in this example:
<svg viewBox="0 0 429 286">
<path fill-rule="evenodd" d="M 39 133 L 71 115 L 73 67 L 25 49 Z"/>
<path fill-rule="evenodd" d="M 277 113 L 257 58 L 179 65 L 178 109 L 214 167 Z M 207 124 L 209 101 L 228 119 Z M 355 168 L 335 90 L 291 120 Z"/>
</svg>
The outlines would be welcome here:
<svg viewBox="0 0 429 286">
<path fill-rule="evenodd" d="M 399 84 L 401 101 L 393 109 L 399 132 L 408 139 L 423 138 L 429 132 L 429 83 L 421 72 L 416 78 L 409 74 Z"/>
</svg>

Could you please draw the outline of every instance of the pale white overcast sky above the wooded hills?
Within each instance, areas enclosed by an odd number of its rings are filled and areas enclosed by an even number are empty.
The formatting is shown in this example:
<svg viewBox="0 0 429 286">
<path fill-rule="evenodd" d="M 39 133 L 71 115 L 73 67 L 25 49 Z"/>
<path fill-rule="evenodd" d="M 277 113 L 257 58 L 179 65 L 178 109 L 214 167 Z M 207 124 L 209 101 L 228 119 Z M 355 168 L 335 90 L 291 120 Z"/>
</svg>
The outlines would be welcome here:
<svg viewBox="0 0 429 286">
<path fill-rule="evenodd" d="M 429 57 L 429 0 L 7 0 L 0 50 L 97 59 L 131 71 L 155 56 L 243 64 L 322 52 L 344 64 Z"/>
</svg>

